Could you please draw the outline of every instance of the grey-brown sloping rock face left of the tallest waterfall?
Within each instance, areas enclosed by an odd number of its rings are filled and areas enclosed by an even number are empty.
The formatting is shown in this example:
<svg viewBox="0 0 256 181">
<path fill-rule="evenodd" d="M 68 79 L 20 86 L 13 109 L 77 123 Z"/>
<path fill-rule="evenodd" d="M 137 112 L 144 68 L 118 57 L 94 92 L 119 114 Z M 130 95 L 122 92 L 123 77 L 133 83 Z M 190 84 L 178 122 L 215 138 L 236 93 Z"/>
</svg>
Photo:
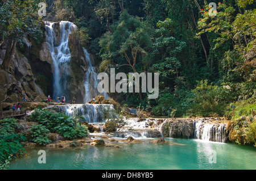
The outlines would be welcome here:
<svg viewBox="0 0 256 181">
<path fill-rule="evenodd" d="M 5 45 L 0 49 L 0 62 L 5 56 Z M 32 69 L 28 59 L 17 50 L 11 60 L 10 71 L 0 69 L 0 101 L 1 102 L 22 102 L 22 95 L 27 100 L 41 101 L 46 98 L 43 91 L 34 82 Z M 39 97 L 38 97 L 39 96 Z"/>
</svg>

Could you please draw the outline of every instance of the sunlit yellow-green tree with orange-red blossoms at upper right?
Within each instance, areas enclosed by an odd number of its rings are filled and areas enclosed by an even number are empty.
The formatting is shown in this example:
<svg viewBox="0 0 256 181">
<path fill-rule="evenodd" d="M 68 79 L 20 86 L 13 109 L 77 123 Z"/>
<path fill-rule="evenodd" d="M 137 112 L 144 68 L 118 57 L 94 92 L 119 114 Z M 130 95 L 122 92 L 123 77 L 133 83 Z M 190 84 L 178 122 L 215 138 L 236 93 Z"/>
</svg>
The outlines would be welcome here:
<svg viewBox="0 0 256 181">
<path fill-rule="evenodd" d="M 236 1 L 235 6 L 230 4 L 218 3 L 217 15 L 209 15 L 209 7 L 205 6 L 201 10 L 202 17 L 199 19 L 198 25 L 200 32 L 197 36 L 209 33 L 210 41 L 213 44 L 214 52 L 221 52 L 221 63 L 230 66 L 226 71 L 240 73 L 240 78 L 249 78 L 255 65 L 255 55 L 251 52 L 255 51 L 255 13 L 256 10 L 246 10 L 243 12 L 241 8 L 245 7 L 250 1 Z M 224 50 L 224 51 L 223 51 Z M 231 69 L 231 70 L 230 70 Z"/>
</svg>

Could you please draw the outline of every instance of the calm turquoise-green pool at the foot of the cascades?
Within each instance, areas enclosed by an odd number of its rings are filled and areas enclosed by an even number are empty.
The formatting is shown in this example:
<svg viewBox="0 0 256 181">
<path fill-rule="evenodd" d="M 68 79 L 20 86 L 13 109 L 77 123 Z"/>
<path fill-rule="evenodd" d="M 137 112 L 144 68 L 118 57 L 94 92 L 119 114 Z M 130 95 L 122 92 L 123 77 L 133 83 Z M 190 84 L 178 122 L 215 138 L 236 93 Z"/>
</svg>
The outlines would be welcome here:
<svg viewBox="0 0 256 181">
<path fill-rule="evenodd" d="M 251 146 L 168 139 L 183 145 L 160 145 L 143 141 L 139 144 L 118 143 L 121 148 L 38 148 L 10 164 L 10 169 L 256 169 L 256 149 Z M 38 150 L 46 151 L 46 163 L 39 164 Z"/>
</svg>

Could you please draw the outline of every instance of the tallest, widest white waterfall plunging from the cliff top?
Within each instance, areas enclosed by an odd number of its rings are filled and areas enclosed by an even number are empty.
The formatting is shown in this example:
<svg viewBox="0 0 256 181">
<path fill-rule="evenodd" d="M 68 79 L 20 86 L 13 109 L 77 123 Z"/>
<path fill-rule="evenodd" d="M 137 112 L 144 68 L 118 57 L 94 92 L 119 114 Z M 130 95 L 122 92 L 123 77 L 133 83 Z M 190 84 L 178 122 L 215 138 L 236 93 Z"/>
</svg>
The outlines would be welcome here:
<svg viewBox="0 0 256 181">
<path fill-rule="evenodd" d="M 75 24 L 61 21 L 60 30 L 55 32 L 53 29 L 56 23 L 45 22 L 46 43 L 48 44 L 49 53 L 52 57 L 53 65 L 53 98 L 65 93 L 65 83 L 68 75 L 68 62 L 71 59 L 71 53 L 68 48 L 68 36 L 76 30 Z"/>
</svg>

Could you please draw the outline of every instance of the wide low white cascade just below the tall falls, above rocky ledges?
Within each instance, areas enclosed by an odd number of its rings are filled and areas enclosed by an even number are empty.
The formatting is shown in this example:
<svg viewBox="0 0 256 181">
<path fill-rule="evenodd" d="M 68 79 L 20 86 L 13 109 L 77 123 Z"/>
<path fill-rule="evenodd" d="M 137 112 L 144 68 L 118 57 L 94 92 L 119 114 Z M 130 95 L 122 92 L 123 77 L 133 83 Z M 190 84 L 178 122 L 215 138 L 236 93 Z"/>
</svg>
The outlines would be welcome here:
<svg viewBox="0 0 256 181">
<path fill-rule="evenodd" d="M 70 104 L 55 106 L 55 110 L 69 116 L 84 117 L 84 121 L 88 123 L 104 123 L 107 119 L 105 113 L 113 112 L 114 106 L 112 104 Z"/>
</svg>

